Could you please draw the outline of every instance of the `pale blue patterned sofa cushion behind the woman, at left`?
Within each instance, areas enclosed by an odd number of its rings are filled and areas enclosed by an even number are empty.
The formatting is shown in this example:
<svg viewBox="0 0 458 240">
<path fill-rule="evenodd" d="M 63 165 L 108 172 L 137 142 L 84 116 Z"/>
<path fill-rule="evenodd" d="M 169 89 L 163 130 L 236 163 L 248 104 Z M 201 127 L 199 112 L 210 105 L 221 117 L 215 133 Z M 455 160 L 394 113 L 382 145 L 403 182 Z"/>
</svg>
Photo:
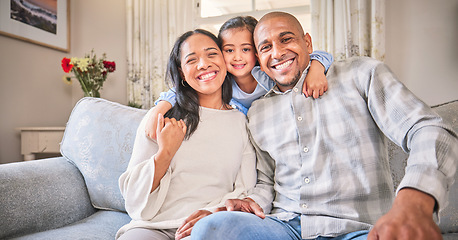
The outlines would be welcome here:
<svg viewBox="0 0 458 240">
<path fill-rule="evenodd" d="M 83 98 L 70 115 L 61 154 L 81 171 L 92 205 L 125 211 L 118 178 L 126 170 L 146 110 Z"/>
</svg>

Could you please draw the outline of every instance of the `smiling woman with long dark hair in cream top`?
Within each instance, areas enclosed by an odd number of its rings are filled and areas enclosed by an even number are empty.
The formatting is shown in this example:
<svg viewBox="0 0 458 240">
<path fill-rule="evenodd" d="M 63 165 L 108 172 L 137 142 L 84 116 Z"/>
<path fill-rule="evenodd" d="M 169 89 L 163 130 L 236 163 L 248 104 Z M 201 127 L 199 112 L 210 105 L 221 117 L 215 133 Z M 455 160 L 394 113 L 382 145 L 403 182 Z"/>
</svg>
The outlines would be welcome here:
<svg viewBox="0 0 458 240">
<path fill-rule="evenodd" d="M 193 212 L 192 223 L 226 199 L 245 197 L 256 182 L 245 116 L 228 105 L 231 82 L 217 38 L 200 29 L 183 34 L 167 75 L 177 103 L 165 118 L 159 115 L 157 142 L 145 134 L 151 110 L 137 130 L 129 166 L 119 178 L 132 218 L 119 239 L 174 239 Z M 190 230 L 182 226 L 176 237 Z"/>
</svg>

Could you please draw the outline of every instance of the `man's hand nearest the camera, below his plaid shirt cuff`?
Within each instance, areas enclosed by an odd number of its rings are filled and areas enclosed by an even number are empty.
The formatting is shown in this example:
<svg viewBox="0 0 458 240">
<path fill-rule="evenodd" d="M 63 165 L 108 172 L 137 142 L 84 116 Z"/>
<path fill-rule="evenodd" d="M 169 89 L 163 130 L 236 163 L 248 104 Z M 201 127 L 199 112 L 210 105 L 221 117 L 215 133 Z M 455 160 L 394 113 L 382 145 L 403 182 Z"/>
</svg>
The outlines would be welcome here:
<svg viewBox="0 0 458 240">
<path fill-rule="evenodd" d="M 435 200 L 430 195 L 411 188 L 402 189 L 391 210 L 375 223 L 367 239 L 442 239 L 432 217 L 434 205 Z"/>
</svg>

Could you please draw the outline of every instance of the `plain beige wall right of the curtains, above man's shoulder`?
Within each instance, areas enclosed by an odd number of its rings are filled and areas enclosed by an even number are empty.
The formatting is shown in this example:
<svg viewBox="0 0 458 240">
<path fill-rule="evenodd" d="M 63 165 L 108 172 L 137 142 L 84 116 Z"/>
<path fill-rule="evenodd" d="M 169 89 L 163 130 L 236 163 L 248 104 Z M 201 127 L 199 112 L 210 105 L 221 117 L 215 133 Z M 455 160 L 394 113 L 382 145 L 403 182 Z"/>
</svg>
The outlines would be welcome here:
<svg viewBox="0 0 458 240">
<path fill-rule="evenodd" d="M 458 99 L 458 0 L 387 0 L 386 61 L 420 99 Z"/>
</svg>

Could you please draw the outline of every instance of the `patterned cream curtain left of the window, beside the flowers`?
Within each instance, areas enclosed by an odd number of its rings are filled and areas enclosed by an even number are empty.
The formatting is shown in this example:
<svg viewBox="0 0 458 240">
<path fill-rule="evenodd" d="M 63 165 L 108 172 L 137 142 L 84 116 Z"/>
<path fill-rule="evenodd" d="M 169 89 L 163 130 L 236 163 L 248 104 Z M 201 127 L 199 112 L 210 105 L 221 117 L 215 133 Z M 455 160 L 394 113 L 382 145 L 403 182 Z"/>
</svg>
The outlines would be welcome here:
<svg viewBox="0 0 458 240">
<path fill-rule="evenodd" d="M 194 1 L 126 0 L 127 95 L 149 109 L 167 90 L 165 69 L 179 35 L 192 30 Z"/>
</svg>

